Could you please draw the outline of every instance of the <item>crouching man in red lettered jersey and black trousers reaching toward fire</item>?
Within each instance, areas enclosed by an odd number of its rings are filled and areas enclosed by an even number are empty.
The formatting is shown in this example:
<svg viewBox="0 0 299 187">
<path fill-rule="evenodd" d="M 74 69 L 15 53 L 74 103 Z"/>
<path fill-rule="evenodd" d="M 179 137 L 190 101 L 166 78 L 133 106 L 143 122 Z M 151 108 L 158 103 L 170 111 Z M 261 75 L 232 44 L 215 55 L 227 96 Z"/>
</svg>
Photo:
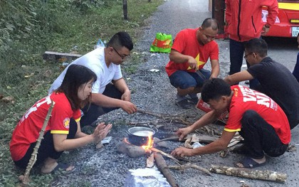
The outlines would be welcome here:
<svg viewBox="0 0 299 187">
<path fill-rule="evenodd" d="M 177 135 L 183 139 L 190 132 L 214 122 L 223 112 L 229 111 L 221 137 L 196 149 L 179 147 L 174 156 L 211 154 L 227 148 L 234 134 L 239 132 L 244 139 L 241 153 L 246 155 L 239 167 L 254 168 L 266 163 L 268 156 L 280 156 L 290 143 L 290 125 L 283 109 L 270 97 L 241 85 L 231 86 L 224 80 L 214 78 L 205 82 L 201 98 L 211 107 L 211 112 L 189 127 L 179 129 Z"/>
</svg>

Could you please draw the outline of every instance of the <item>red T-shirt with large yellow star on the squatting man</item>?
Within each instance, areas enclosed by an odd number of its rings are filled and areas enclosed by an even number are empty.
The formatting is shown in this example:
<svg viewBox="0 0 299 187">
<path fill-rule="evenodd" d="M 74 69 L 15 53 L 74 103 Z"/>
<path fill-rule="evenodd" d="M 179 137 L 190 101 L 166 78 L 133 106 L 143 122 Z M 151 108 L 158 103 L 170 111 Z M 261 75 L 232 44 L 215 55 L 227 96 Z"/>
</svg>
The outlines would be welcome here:
<svg viewBox="0 0 299 187">
<path fill-rule="evenodd" d="M 197 30 L 198 28 L 187 28 L 177 33 L 172 49 L 177 50 L 183 55 L 192 56 L 197 61 L 199 70 L 201 70 L 204 68 L 204 65 L 209 58 L 210 60 L 219 59 L 219 48 L 216 41 L 211 41 L 206 43 L 204 46 L 201 46 L 196 38 Z M 172 60 L 169 60 L 169 63 L 167 63 L 165 69 L 168 76 L 172 75 L 172 73 L 176 72 L 177 70 L 195 72 L 194 69 L 189 68 L 189 64 L 187 62 L 174 63 Z"/>
</svg>

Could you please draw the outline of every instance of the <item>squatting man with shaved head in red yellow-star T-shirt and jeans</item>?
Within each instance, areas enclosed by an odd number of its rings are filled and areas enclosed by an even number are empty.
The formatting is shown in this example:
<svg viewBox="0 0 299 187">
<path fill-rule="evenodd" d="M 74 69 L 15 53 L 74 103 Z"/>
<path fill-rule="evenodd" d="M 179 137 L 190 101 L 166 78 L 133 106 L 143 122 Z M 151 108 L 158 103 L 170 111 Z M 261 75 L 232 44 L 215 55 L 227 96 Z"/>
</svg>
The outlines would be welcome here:
<svg viewBox="0 0 299 187">
<path fill-rule="evenodd" d="M 204 80 L 219 75 L 219 48 L 214 41 L 218 33 L 218 23 L 206 18 L 199 28 L 187 28 L 177 33 L 165 69 L 170 83 L 177 88 L 176 104 L 191 108 L 198 102 Z M 210 58 L 211 72 L 204 70 Z M 189 95 L 189 101 L 187 100 Z"/>
</svg>

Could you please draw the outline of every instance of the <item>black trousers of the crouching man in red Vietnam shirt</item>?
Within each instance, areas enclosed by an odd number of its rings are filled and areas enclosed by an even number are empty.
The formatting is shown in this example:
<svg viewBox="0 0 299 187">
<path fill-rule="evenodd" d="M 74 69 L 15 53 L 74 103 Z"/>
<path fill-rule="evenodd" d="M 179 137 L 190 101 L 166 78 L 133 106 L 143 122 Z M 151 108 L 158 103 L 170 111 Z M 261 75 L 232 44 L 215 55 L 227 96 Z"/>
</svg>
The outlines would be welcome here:
<svg viewBox="0 0 299 187">
<path fill-rule="evenodd" d="M 251 158 L 262 159 L 264 153 L 273 157 L 280 156 L 288 148 L 288 144 L 280 141 L 274 128 L 256 111 L 247 110 L 243 114 L 241 124 L 240 134 Z"/>
</svg>

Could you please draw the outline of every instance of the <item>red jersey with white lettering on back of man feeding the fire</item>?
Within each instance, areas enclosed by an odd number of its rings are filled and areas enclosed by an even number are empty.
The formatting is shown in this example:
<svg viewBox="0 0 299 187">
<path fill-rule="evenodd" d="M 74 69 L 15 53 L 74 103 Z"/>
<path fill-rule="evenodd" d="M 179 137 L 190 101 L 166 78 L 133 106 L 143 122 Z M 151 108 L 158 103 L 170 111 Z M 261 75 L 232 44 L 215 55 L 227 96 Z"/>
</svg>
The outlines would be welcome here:
<svg viewBox="0 0 299 187">
<path fill-rule="evenodd" d="M 227 132 L 241 131 L 243 113 L 252 109 L 275 129 L 283 144 L 290 143 L 290 125 L 283 109 L 270 97 L 241 85 L 231 86 L 234 95 L 229 106 L 229 120 L 224 127 Z"/>
</svg>

